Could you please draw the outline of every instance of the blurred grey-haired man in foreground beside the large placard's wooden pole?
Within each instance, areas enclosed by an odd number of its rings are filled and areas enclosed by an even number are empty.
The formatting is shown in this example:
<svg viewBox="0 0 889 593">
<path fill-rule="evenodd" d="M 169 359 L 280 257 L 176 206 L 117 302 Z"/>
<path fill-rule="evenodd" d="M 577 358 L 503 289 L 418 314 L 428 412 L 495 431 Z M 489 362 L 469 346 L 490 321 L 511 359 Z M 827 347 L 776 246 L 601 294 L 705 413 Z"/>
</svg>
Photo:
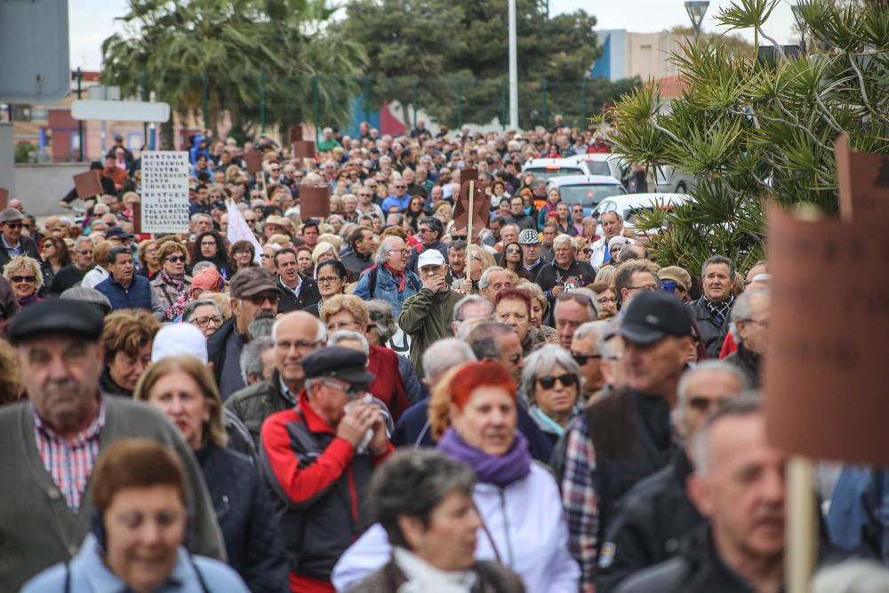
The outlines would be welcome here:
<svg viewBox="0 0 889 593">
<path fill-rule="evenodd" d="M 679 556 L 634 574 L 620 593 L 740 593 L 785 587 L 784 453 L 765 437 L 756 397 L 738 397 L 709 418 L 693 439 L 688 494 L 707 518 Z"/>
</svg>

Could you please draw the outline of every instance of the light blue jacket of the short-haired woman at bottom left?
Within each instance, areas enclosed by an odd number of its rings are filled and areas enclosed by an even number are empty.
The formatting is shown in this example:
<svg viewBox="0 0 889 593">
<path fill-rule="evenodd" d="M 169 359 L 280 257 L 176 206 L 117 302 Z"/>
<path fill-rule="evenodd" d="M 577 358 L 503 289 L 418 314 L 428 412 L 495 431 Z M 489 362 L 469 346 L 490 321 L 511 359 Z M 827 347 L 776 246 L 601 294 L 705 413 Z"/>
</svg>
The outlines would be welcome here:
<svg viewBox="0 0 889 593">
<path fill-rule="evenodd" d="M 200 575 L 198 575 L 198 572 Z M 66 581 L 70 587 L 66 588 Z M 203 584 L 202 581 L 203 580 Z M 205 585 L 205 586 L 204 586 Z M 86 536 L 77 555 L 66 566 L 51 566 L 25 583 L 21 593 L 105 593 L 123 591 L 124 581 L 108 569 L 102 561 L 99 542 L 92 533 Z M 154 593 L 250 593 L 244 581 L 234 569 L 212 558 L 188 557 L 188 551 L 179 548 L 179 561 L 170 577 Z"/>
</svg>

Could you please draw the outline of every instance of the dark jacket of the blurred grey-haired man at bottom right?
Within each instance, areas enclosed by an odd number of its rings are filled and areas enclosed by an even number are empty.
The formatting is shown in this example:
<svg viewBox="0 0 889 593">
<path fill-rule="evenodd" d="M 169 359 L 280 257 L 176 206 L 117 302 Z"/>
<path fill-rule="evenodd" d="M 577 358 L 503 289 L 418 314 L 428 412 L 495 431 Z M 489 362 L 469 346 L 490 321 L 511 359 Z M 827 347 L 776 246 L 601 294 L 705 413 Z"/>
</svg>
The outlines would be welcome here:
<svg viewBox="0 0 889 593">
<path fill-rule="evenodd" d="M 683 542 L 678 557 L 634 574 L 615 593 L 754 593 L 713 547 L 709 525 Z"/>
</svg>

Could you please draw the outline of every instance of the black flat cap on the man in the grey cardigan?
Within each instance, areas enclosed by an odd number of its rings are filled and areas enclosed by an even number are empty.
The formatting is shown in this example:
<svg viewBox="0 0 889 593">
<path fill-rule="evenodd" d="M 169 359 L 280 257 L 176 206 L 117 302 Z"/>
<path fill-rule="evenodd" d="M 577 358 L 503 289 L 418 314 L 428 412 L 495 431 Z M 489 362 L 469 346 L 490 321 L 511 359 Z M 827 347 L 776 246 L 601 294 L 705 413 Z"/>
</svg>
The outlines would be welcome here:
<svg viewBox="0 0 889 593">
<path fill-rule="evenodd" d="M 50 333 L 62 333 L 98 341 L 104 327 L 100 309 L 83 301 L 50 299 L 22 309 L 6 334 L 13 346 Z"/>
</svg>

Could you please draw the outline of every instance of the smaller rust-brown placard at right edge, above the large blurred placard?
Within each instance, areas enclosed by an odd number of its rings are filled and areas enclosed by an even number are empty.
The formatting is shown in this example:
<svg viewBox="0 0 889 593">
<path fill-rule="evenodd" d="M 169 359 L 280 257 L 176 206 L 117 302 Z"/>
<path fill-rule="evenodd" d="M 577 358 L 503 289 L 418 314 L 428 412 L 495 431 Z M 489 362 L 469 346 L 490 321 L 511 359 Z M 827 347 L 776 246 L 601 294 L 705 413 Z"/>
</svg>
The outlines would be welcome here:
<svg viewBox="0 0 889 593">
<path fill-rule="evenodd" d="M 849 149 L 849 134 L 837 138 L 839 213 L 843 220 L 889 218 L 889 155 Z"/>
</svg>

